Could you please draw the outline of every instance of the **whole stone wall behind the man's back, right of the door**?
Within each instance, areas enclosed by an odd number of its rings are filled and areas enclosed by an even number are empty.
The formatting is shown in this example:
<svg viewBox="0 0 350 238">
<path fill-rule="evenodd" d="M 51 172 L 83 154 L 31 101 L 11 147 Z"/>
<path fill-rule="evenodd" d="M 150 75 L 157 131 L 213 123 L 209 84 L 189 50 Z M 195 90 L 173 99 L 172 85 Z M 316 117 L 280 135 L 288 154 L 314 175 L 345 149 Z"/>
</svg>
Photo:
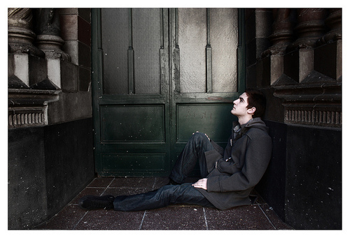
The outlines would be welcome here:
<svg viewBox="0 0 350 238">
<path fill-rule="evenodd" d="M 293 228 L 341 229 L 342 9 L 249 9 L 246 37 L 274 140 L 258 191 Z"/>
</svg>

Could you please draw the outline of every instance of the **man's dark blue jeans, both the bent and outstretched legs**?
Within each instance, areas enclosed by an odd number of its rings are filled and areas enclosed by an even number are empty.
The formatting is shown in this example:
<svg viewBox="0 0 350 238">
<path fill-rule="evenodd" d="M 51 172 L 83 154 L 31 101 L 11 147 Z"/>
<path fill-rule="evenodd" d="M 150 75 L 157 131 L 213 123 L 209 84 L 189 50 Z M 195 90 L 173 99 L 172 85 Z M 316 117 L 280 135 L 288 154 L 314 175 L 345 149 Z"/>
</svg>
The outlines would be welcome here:
<svg viewBox="0 0 350 238">
<path fill-rule="evenodd" d="M 182 184 L 188 174 L 200 164 L 202 177 L 207 177 L 207 162 L 204 152 L 214 149 L 206 135 L 195 133 L 188 140 L 179 155 L 169 178 L 181 185 L 166 185 L 155 191 L 135 195 L 123 195 L 114 199 L 114 209 L 118 211 L 141 211 L 166 207 L 169 204 L 186 203 L 204 207 L 214 207 L 192 184 Z"/>
</svg>

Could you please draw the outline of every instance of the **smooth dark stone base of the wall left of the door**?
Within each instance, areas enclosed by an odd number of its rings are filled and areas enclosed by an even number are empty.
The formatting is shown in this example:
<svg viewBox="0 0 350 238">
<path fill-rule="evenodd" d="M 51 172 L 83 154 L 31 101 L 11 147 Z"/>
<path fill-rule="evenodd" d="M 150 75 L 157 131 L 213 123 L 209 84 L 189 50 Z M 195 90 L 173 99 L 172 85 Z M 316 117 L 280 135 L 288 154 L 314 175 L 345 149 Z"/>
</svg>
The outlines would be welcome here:
<svg viewBox="0 0 350 238">
<path fill-rule="evenodd" d="M 8 131 L 8 229 L 34 228 L 94 178 L 92 118 Z"/>
</svg>

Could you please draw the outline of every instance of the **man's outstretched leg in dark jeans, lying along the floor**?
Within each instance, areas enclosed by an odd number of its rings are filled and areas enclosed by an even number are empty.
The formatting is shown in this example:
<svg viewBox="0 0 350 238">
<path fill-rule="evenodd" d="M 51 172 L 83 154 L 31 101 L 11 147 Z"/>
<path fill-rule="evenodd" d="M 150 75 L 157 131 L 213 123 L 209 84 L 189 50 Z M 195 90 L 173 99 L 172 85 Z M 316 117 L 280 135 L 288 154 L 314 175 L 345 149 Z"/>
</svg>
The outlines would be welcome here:
<svg viewBox="0 0 350 238">
<path fill-rule="evenodd" d="M 166 185 L 148 193 L 118 196 L 113 206 L 118 211 L 142 211 L 179 203 L 214 207 L 192 184 Z"/>
</svg>

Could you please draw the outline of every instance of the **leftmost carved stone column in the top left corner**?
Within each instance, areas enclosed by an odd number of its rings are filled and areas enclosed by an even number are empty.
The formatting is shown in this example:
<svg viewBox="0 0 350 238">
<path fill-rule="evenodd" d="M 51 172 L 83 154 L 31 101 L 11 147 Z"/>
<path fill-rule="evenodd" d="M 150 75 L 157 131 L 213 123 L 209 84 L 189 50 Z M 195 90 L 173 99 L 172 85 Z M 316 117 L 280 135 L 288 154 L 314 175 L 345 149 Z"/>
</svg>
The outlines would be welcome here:
<svg viewBox="0 0 350 238">
<path fill-rule="evenodd" d="M 8 52 L 25 53 L 45 57 L 45 53 L 33 45 L 33 15 L 30 8 L 8 8 Z"/>
</svg>

